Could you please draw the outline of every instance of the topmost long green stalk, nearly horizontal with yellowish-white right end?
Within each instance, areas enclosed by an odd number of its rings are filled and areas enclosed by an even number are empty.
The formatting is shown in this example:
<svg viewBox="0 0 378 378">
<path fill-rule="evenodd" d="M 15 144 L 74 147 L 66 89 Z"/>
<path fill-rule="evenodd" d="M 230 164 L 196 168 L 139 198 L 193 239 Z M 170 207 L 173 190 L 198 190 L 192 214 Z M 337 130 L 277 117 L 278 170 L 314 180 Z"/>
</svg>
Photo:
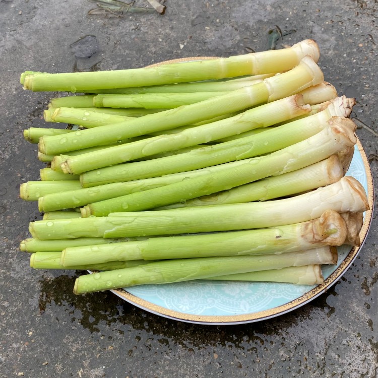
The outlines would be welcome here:
<svg viewBox="0 0 378 378">
<path fill-rule="evenodd" d="M 258 75 L 290 70 L 301 58 L 311 55 L 318 61 L 319 48 L 305 40 L 283 50 L 270 50 L 246 55 L 187 61 L 150 68 L 78 72 L 69 74 L 26 75 L 24 88 L 32 91 L 85 91 L 90 89 L 128 88 Z"/>
</svg>

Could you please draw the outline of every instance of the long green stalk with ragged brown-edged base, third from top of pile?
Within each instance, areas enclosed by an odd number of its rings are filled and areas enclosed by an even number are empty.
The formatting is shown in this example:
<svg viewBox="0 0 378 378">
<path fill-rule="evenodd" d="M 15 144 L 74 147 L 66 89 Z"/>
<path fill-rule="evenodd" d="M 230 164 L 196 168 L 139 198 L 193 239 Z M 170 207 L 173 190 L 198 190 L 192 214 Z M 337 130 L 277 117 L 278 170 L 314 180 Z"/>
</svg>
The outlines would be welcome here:
<svg viewBox="0 0 378 378">
<path fill-rule="evenodd" d="M 96 156 L 92 153 L 81 155 L 80 158 L 72 157 L 67 159 L 62 169 L 66 173 L 82 173 L 148 155 L 208 143 L 255 128 L 264 128 L 309 111 L 310 107 L 303 104 L 302 96 L 294 95 L 255 107 L 230 118 L 188 128 L 177 134 L 164 134 L 128 144 L 128 146 L 109 147 Z"/>
</svg>

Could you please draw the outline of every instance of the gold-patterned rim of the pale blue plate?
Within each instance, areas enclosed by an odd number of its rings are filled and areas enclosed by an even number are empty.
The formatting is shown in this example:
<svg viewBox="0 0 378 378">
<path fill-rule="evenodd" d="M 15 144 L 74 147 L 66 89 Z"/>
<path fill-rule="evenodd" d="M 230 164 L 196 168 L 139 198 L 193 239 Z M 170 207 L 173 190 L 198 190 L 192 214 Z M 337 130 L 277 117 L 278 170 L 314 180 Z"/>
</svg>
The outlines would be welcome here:
<svg viewBox="0 0 378 378">
<path fill-rule="evenodd" d="M 357 136 L 356 136 L 357 137 Z M 361 250 L 365 240 L 367 233 L 370 229 L 371 221 L 372 221 L 372 214 L 374 210 L 374 182 L 371 172 L 371 167 L 366 155 L 363 146 L 357 137 L 356 143 L 357 149 L 362 157 L 362 162 L 365 168 L 366 178 L 367 178 L 367 200 L 370 209 L 365 212 L 365 220 L 363 222 L 362 228 L 360 230 L 360 239 L 361 245 L 354 246 L 348 253 L 348 255 L 344 258 L 344 260 L 340 263 L 340 265 L 335 269 L 331 275 L 325 279 L 323 284 L 320 284 L 304 294 L 300 297 L 293 299 L 287 303 L 279 305 L 277 307 L 272 307 L 263 311 L 257 312 L 248 312 L 245 314 L 239 315 L 196 315 L 190 314 L 180 311 L 171 310 L 166 307 L 159 306 L 154 304 L 146 299 L 142 299 L 134 294 L 129 293 L 124 289 L 113 289 L 109 290 L 121 299 L 134 304 L 135 306 L 142 308 L 148 312 L 154 313 L 158 316 L 168 318 L 171 320 L 176 320 L 180 322 L 192 323 L 192 324 L 203 324 L 203 325 L 236 325 L 236 324 L 246 324 L 246 323 L 254 323 L 260 322 L 267 319 L 272 319 L 287 312 L 293 311 L 304 304 L 310 302 L 311 300 L 317 298 L 319 295 L 326 292 L 333 284 L 337 282 L 338 279 L 342 277 L 342 275 L 349 269 L 352 265 L 354 260 L 356 259 L 359 251 Z"/>
</svg>

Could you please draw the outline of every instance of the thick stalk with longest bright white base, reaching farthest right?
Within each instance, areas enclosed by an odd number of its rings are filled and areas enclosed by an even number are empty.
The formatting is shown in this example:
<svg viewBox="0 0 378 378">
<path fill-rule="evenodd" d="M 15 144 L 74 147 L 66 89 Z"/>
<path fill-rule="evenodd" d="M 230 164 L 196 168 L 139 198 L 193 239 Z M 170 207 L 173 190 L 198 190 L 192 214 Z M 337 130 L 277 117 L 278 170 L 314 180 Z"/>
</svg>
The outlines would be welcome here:
<svg viewBox="0 0 378 378">
<path fill-rule="evenodd" d="M 41 240 L 231 231 L 305 222 L 328 209 L 338 213 L 368 210 L 363 186 L 345 176 L 334 184 L 284 200 L 42 220 L 31 222 L 29 231 Z"/>
</svg>

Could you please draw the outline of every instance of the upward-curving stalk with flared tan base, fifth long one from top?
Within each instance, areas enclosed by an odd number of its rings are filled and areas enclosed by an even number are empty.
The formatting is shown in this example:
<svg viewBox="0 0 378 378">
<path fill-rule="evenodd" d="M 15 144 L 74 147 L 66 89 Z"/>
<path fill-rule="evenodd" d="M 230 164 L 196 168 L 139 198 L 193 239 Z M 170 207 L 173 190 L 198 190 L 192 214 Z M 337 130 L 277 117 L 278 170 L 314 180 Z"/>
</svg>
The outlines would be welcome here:
<svg viewBox="0 0 378 378">
<path fill-rule="evenodd" d="M 304 168 L 334 155 L 345 146 L 354 146 L 355 124 L 348 118 L 333 117 L 320 133 L 270 155 L 245 159 L 202 177 L 97 202 L 81 208 L 82 216 L 104 216 L 111 212 L 153 209 L 192 198 L 226 191 L 232 187 Z M 259 135 L 259 134 L 258 134 Z"/>
</svg>

